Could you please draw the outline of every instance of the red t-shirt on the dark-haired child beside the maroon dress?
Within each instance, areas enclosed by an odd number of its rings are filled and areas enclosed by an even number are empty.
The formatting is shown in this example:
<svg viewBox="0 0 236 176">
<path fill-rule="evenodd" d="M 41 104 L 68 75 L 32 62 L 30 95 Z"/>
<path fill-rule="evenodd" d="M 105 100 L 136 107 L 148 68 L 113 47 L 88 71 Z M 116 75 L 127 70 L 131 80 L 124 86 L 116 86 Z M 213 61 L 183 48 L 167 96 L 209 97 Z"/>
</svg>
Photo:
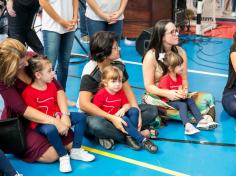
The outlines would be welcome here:
<svg viewBox="0 0 236 176">
<path fill-rule="evenodd" d="M 25 104 L 31 106 L 47 115 L 54 116 L 60 112 L 57 104 L 57 88 L 53 82 L 47 84 L 46 90 L 38 90 L 28 85 L 22 93 Z M 31 122 L 31 128 L 34 129 L 37 123 Z"/>
</svg>

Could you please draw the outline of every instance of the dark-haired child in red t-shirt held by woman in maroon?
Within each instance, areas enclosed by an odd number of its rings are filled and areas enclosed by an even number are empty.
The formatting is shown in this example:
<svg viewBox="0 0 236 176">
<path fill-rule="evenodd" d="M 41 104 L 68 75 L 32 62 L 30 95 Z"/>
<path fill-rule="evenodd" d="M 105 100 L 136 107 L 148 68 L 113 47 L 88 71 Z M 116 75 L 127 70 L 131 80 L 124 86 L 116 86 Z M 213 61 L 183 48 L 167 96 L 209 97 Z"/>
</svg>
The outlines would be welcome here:
<svg viewBox="0 0 236 176">
<path fill-rule="evenodd" d="M 86 116 L 83 113 L 68 112 L 66 98 L 58 99 L 58 90 L 53 83 L 54 71 L 51 62 L 43 56 L 32 57 L 28 61 L 27 74 L 32 78 L 22 97 L 25 103 L 39 111 L 61 120 L 65 130 L 59 134 L 53 124 L 38 124 L 31 122 L 30 126 L 45 135 L 59 155 L 60 171 L 71 172 L 70 158 L 82 161 L 92 161 L 95 157 L 81 147 Z M 62 137 L 67 136 L 70 126 L 74 125 L 74 140 L 70 157 L 63 146 Z"/>
</svg>

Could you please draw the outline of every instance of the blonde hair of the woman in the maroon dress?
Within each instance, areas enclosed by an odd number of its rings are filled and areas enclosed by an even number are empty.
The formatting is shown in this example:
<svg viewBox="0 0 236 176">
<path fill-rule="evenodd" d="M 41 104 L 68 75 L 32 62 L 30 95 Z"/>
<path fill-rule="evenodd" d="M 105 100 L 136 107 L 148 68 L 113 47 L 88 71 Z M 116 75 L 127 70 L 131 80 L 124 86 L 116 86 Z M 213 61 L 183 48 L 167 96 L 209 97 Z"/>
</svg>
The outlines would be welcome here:
<svg viewBox="0 0 236 176">
<path fill-rule="evenodd" d="M 25 46 L 15 39 L 5 39 L 0 43 L 0 80 L 7 86 L 14 84 L 19 61 L 26 54 Z"/>
</svg>

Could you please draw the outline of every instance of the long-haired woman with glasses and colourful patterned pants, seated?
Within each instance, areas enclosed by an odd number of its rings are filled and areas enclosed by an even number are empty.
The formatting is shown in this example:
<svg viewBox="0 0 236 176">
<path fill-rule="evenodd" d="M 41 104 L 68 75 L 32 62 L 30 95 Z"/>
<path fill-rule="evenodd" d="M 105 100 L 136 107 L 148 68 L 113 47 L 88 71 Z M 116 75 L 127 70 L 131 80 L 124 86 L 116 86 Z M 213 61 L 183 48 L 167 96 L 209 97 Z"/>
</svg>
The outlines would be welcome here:
<svg viewBox="0 0 236 176">
<path fill-rule="evenodd" d="M 188 92 L 187 79 L 187 56 L 185 51 L 177 46 L 179 42 L 178 31 L 170 20 L 160 20 L 153 28 L 151 41 L 147 53 L 143 58 L 143 78 L 146 94 L 143 101 L 147 104 L 157 105 L 164 111 L 164 116 L 180 120 L 179 112 L 173 107 L 161 101 L 159 97 L 166 97 L 168 100 L 183 98 L 178 90 L 166 90 L 158 88 L 159 80 L 166 72 L 167 67 L 163 64 L 165 53 L 173 51 L 178 53 L 184 60 L 183 63 L 183 90 Z M 215 119 L 214 99 L 211 94 L 195 92 L 190 94 L 202 114 L 209 121 Z"/>
</svg>

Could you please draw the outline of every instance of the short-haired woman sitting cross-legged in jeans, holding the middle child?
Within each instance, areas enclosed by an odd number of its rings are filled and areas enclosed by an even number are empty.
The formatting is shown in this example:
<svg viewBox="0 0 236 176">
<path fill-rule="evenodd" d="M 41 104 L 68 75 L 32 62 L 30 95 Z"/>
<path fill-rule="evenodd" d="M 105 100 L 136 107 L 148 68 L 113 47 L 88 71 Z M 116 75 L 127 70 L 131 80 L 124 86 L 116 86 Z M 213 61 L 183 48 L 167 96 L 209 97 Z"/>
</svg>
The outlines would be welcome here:
<svg viewBox="0 0 236 176">
<path fill-rule="evenodd" d="M 137 148 L 136 142 L 130 141 L 124 134 L 127 133 L 123 128 L 123 125 L 127 125 L 126 122 L 122 118 L 108 114 L 92 103 L 93 95 L 99 89 L 103 69 L 108 65 L 113 65 L 123 72 L 123 90 L 128 101 L 131 107 L 136 107 L 141 111 L 137 127 L 139 131 L 142 126 L 147 127 L 157 117 L 157 108 L 150 105 L 138 106 L 128 82 L 125 66 L 121 60 L 117 60 L 120 58 L 120 48 L 113 32 L 101 31 L 94 34 L 90 40 L 90 52 L 92 60 L 84 67 L 78 99 L 80 109 L 89 114 L 86 130 L 88 134 L 99 139 L 100 144 L 106 149 L 114 147 L 114 140 L 121 143 L 126 141 L 131 148 Z"/>
</svg>

